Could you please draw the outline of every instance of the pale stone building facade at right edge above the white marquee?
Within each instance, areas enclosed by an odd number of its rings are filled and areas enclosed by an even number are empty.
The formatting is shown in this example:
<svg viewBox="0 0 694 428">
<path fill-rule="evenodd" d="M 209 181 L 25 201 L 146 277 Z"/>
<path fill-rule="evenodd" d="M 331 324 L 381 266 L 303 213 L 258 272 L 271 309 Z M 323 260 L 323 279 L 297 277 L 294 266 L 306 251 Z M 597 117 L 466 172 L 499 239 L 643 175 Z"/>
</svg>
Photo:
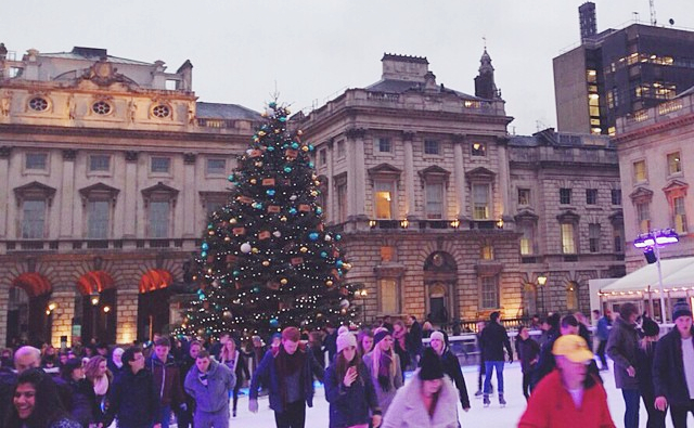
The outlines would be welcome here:
<svg viewBox="0 0 694 428">
<path fill-rule="evenodd" d="M 680 236 L 674 245 L 660 249 L 663 258 L 694 256 L 693 229 L 687 213 L 694 211 L 689 195 L 690 170 L 694 159 L 694 94 L 692 89 L 674 100 L 617 120 L 614 142 L 619 152 L 621 187 L 625 196 L 627 271 L 646 264 L 643 251 L 633 246 L 641 233 L 673 229 Z"/>
</svg>

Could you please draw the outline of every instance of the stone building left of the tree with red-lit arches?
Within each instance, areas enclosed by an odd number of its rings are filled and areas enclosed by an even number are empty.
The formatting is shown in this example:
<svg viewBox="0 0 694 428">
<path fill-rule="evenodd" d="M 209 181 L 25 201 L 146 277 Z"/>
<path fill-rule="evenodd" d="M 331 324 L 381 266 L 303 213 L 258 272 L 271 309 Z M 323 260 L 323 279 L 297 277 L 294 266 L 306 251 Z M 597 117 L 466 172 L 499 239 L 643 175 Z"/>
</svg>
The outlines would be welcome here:
<svg viewBox="0 0 694 428">
<path fill-rule="evenodd" d="M 0 343 L 150 338 L 260 116 L 198 102 L 188 61 L 5 51 Z"/>
</svg>

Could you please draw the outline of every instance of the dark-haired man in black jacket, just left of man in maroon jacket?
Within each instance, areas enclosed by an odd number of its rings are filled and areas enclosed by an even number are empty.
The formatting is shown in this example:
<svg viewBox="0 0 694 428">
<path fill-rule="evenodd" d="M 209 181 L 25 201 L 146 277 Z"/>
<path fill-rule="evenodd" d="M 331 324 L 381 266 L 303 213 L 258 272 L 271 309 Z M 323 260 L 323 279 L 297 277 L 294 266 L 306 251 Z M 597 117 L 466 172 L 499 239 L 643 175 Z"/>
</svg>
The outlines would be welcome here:
<svg viewBox="0 0 694 428">
<path fill-rule="evenodd" d="M 156 423 L 159 393 L 154 388 L 152 374 L 144 369 L 144 355 L 138 347 L 126 349 L 123 365 L 128 367 L 108 392 L 110 406 L 104 415 L 104 427 L 118 418 L 118 428 L 162 428 Z"/>
</svg>

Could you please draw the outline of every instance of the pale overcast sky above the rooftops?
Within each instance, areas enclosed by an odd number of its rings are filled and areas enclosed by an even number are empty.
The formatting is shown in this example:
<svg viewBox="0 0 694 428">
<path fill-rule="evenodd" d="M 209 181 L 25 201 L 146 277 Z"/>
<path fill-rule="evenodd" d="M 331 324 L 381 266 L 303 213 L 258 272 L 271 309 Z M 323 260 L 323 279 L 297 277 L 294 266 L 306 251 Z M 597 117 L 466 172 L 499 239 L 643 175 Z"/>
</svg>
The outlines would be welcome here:
<svg viewBox="0 0 694 428">
<path fill-rule="evenodd" d="M 261 111 L 277 88 L 293 111 L 381 78 L 384 52 L 426 56 L 438 83 L 474 94 L 484 49 L 515 117 L 509 131 L 555 127 L 552 59 L 578 46 L 569 0 L 23 0 L 0 10 L 0 41 L 132 60 L 193 63 L 200 101 Z M 622 28 L 648 0 L 596 0 L 597 30 Z M 658 24 L 694 28 L 691 0 L 655 0 Z M 669 24 L 668 24 L 669 25 Z"/>
</svg>

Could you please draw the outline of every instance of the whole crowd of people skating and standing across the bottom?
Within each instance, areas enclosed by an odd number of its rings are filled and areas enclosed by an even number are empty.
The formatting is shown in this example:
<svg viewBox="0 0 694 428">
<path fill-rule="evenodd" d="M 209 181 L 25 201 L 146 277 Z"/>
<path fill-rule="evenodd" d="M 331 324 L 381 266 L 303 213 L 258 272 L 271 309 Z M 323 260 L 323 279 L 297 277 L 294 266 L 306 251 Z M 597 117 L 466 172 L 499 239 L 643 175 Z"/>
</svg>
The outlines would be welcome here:
<svg viewBox="0 0 694 428">
<path fill-rule="evenodd" d="M 489 406 L 496 378 L 505 405 L 503 368 L 515 356 L 527 400 L 519 427 L 614 427 L 601 378 L 609 369 L 606 354 L 624 395 L 626 428 L 639 426 L 641 400 L 648 428 L 665 427 L 668 410 L 674 427 L 685 427 L 694 413 L 694 330 L 689 303 L 673 309 L 676 327 L 661 338 L 658 324 L 631 303 L 614 321 L 594 313 L 597 359 L 581 314 L 534 317 L 517 328 L 514 352 L 500 313 L 492 312 L 477 325 L 475 397 Z M 314 380 L 324 385 L 331 428 L 457 428 L 458 410 L 472 406 L 447 333 L 422 328 L 414 316 L 384 317 L 362 329 L 286 327 L 267 340 L 230 332 L 214 342 L 155 335 L 125 349 L 5 349 L 0 428 L 105 428 L 114 420 L 120 428 L 168 428 L 171 420 L 179 428 L 228 428 L 245 385 L 250 412 L 267 394 L 278 428 L 303 428 Z M 406 371 L 413 372 L 407 382 Z"/>
</svg>

